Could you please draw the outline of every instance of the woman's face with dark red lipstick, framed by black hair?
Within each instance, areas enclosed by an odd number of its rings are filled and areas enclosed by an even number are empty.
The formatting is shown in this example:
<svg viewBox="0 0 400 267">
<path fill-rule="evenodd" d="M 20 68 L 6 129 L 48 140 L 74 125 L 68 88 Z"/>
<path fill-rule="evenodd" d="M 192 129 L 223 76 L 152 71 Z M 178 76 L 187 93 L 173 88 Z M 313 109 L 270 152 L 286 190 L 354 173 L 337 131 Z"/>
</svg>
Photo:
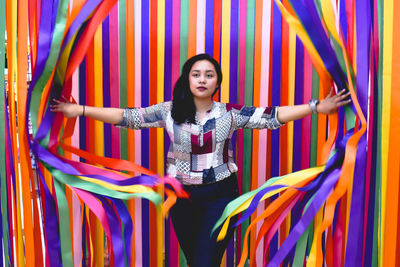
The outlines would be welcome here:
<svg viewBox="0 0 400 267">
<path fill-rule="evenodd" d="M 211 99 L 219 84 L 214 65 L 204 59 L 193 64 L 189 72 L 189 86 L 194 99 Z"/>
</svg>

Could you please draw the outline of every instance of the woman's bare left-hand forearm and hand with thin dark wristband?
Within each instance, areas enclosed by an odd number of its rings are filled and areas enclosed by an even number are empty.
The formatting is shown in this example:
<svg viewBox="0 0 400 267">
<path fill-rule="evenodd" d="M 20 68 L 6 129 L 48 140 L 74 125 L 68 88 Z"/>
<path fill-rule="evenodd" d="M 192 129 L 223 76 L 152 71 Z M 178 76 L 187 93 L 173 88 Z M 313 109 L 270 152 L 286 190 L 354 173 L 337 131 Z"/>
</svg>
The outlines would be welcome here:
<svg viewBox="0 0 400 267">
<path fill-rule="evenodd" d="M 119 124 L 122 121 L 124 113 L 124 110 L 120 108 L 83 106 L 57 99 L 53 99 L 53 101 L 55 104 L 50 105 L 50 110 L 53 112 L 62 112 L 67 118 L 85 116 L 105 123 Z"/>
</svg>

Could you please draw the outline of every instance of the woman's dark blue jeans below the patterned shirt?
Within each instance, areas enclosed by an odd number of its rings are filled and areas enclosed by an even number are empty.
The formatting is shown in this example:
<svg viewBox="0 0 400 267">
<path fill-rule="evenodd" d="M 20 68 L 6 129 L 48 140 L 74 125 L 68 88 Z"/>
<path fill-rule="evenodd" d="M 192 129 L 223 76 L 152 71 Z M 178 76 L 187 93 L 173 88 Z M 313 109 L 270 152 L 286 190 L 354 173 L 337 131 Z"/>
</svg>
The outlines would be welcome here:
<svg viewBox="0 0 400 267">
<path fill-rule="evenodd" d="M 211 231 L 226 205 L 239 195 L 236 174 L 213 184 L 184 186 L 189 199 L 178 198 L 170 214 L 179 244 L 189 267 L 220 266 L 234 229 L 229 227 L 224 240 L 217 242 L 219 229 Z M 237 218 L 232 218 L 232 226 Z"/>
</svg>

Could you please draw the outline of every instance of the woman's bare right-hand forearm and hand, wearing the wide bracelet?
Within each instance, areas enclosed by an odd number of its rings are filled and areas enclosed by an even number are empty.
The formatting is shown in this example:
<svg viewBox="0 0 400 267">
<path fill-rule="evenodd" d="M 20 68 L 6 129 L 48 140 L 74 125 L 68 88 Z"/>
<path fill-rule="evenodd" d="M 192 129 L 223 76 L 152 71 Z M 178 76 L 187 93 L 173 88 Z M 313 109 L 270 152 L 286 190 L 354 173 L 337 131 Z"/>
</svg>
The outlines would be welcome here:
<svg viewBox="0 0 400 267">
<path fill-rule="evenodd" d="M 332 90 L 329 95 L 321 100 L 317 106 L 317 112 L 322 114 L 332 114 L 335 113 L 338 107 L 346 105 L 351 102 L 347 100 L 350 92 L 345 93 L 346 90 L 340 91 L 338 94 L 332 96 Z M 301 119 L 307 115 L 312 114 L 312 110 L 309 104 L 295 105 L 295 106 L 284 106 L 278 108 L 278 121 L 281 123 L 286 123 L 289 121 L 294 121 Z"/>
</svg>

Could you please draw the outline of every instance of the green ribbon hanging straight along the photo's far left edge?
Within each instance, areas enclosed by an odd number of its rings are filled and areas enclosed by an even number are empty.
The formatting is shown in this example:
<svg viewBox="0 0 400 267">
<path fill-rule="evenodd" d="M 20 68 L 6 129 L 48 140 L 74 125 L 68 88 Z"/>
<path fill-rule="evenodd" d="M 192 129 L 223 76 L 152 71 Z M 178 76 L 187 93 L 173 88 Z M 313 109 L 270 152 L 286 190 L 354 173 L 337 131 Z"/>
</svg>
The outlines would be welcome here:
<svg viewBox="0 0 400 267">
<path fill-rule="evenodd" d="M 0 0 L 0 144 L 5 144 L 5 81 L 4 81 L 4 60 L 5 60 L 5 32 L 6 32 L 6 2 Z M 6 149 L 0 146 L 0 178 L 1 178 L 1 211 L 3 226 L 4 263 L 10 264 L 8 258 L 8 210 L 7 210 L 7 184 L 6 184 Z"/>
</svg>

